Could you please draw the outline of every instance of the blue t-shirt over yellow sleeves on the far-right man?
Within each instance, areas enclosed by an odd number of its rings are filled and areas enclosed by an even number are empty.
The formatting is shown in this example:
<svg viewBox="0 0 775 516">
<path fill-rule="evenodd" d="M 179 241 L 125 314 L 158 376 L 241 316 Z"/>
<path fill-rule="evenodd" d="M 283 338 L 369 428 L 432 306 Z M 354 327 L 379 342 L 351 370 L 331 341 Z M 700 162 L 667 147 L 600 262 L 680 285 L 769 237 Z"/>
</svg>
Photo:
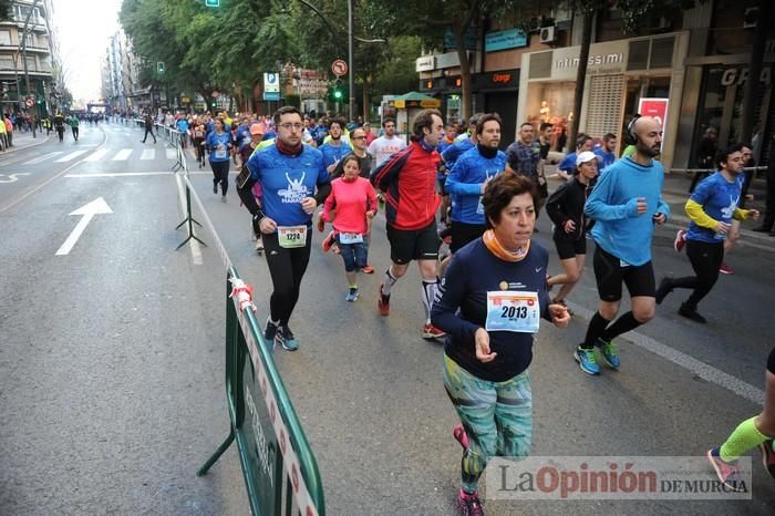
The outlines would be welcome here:
<svg viewBox="0 0 775 516">
<path fill-rule="evenodd" d="M 694 188 L 690 197 L 702 206 L 709 217 L 730 224 L 735 208 L 740 206 L 741 192 L 745 174 L 740 174 L 733 182 L 728 182 L 721 172 L 704 178 Z M 717 244 L 726 239 L 726 235 L 720 235 L 713 229 L 698 226 L 694 220 L 689 224 L 688 240 L 700 240 L 709 244 Z"/>
</svg>

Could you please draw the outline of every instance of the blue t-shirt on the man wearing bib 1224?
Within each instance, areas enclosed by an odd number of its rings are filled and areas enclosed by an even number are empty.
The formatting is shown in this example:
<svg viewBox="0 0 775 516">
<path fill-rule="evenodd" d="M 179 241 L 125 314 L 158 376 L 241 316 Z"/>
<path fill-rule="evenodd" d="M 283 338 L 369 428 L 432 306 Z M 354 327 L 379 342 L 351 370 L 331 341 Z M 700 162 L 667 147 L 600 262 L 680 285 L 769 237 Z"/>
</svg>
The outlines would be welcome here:
<svg viewBox="0 0 775 516">
<path fill-rule="evenodd" d="M 312 215 L 301 209 L 301 200 L 314 196 L 316 187 L 330 180 L 320 151 L 302 145 L 301 154 L 291 156 L 270 145 L 252 153 L 248 169 L 261 185 L 267 217 L 278 226 L 311 224 Z"/>
</svg>

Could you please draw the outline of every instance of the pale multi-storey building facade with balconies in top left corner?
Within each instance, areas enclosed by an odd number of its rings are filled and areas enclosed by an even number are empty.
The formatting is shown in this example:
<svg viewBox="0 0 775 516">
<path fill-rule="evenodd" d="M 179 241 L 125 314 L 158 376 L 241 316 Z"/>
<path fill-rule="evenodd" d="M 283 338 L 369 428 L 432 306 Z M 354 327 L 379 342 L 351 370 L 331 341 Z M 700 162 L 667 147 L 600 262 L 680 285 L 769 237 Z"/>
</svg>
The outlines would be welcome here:
<svg viewBox="0 0 775 516">
<path fill-rule="evenodd" d="M 59 109 L 61 64 L 51 0 L 14 0 L 0 21 L 2 111 L 45 116 Z M 25 24 L 27 22 L 27 24 Z M 29 105 L 29 107 L 28 107 Z"/>
</svg>

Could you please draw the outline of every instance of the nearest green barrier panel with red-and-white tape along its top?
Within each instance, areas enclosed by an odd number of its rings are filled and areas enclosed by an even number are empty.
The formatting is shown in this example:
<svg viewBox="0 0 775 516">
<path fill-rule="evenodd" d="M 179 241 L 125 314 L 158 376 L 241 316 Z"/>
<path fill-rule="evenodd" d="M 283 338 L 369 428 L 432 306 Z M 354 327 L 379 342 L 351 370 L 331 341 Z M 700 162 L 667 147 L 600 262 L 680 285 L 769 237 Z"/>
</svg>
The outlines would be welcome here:
<svg viewBox="0 0 775 516">
<path fill-rule="evenodd" d="M 226 398 L 231 429 L 197 475 L 205 475 L 237 441 L 252 514 L 323 516 L 318 464 L 256 321 L 248 288 L 234 267 L 226 283 Z"/>
</svg>

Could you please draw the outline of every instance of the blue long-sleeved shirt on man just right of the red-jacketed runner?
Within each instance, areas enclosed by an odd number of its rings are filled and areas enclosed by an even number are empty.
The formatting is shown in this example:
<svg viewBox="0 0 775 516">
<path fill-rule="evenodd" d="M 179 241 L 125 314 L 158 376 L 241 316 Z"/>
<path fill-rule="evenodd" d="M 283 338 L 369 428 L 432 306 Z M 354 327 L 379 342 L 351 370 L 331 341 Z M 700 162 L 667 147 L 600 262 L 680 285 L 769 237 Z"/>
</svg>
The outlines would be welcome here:
<svg viewBox="0 0 775 516">
<path fill-rule="evenodd" d="M 477 147 L 466 151 L 455 162 L 444 184 L 452 199 L 452 219 L 456 223 L 484 226 L 482 183 L 505 169 L 506 154 L 502 151 L 492 158 L 483 156 Z"/>
</svg>

